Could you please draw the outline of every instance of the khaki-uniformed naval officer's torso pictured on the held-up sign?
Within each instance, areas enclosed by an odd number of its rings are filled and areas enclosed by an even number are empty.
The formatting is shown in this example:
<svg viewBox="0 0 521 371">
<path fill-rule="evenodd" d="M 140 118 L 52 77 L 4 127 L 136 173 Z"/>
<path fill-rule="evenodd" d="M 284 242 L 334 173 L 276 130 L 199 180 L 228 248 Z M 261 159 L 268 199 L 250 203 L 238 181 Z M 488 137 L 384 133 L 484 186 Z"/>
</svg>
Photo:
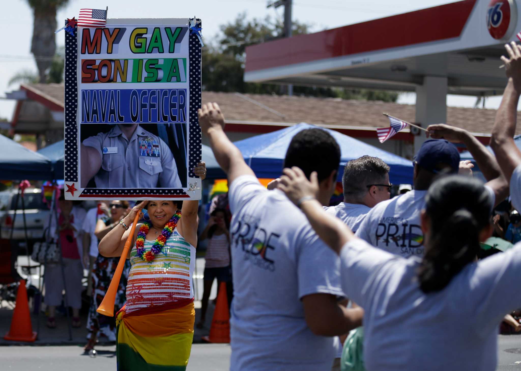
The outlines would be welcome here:
<svg viewBox="0 0 521 371">
<path fill-rule="evenodd" d="M 137 123 L 117 124 L 80 148 L 82 187 L 94 177 L 97 188 L 181 188 L 168 145 Z"/>
</svg>

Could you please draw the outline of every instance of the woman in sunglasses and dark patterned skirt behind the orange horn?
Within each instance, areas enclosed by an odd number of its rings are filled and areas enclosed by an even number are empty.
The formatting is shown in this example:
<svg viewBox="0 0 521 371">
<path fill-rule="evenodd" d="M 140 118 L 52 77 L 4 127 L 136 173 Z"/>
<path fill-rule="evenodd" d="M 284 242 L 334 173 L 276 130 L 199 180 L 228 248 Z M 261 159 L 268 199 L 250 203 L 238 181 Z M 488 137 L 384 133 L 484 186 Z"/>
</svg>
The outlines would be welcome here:
<svg viewBox="0 0 521 371">
<path fill-rule="evenodd" d="M 115 228 L 119 221 L 129 213 L 129 203 L 127 201 L 110 201 L 109 204 L 108 218 L 98 219 L 94 231 L 94 237 L 96 239 L 96 251 L 97 245 L 101 239 Z M 97 334 L 106 336 L 109 341 L 116 341 L 116 319 L 115 317 L 107 317 L 96 312 L 96 309 L 102 302 L 107 292 L 108 286 L 114 276 L 116 267 L 118 266 L 119 258 L 106 258 L 102 254 L 98 253 L 92 270 L 92 287 L 93 295 L 91 298 L 91 305 L 89 308 L 89 315 L 87 319 L 87 329 L 89 330 L 88 339 L 89 342 L 85 346 L 85 350 L 94 348 L 96 343 Z M 114 302 L 114 313 L 116 313 L 127 300 L 125 296 L 125 289 L 127 287 L 128 274 L 130 270 L 130 261 L 126 260 L 125 266 L 123 267 L 123 273 L 119 280 L 118 292 L 116 295 L 116 301 Z"/>
</svg>

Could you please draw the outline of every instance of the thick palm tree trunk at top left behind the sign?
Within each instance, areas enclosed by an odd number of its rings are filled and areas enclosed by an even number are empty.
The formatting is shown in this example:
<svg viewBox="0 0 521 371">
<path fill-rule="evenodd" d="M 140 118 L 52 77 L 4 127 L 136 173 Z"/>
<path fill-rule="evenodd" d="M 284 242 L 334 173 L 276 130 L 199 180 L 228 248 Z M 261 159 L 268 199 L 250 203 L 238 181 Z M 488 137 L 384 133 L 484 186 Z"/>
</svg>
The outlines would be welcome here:
<svg viewBox="0 0 521 371">
<path fill-rule="evenodd" d="M 56 53 L 56 11 L 69 0 L 27 0 L 34 12 L 31 53 L 36 60 L 39 80 L 45 83 L 47 69 L 53 63 Z"/>
</svg>

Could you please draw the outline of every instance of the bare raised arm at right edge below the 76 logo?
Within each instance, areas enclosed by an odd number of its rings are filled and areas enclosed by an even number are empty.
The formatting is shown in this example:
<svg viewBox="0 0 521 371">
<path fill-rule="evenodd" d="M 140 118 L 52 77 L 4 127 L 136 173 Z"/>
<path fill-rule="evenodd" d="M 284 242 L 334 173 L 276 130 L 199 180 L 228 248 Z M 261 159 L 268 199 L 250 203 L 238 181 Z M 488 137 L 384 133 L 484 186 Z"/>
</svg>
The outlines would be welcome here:
<svg viewBox="0 0 521 371">
<path fill-rule="evenodd" d="M 517 103 L 521 94 L 521 48 L 515 42 L 512 42 L 512 47 L 506 44 L 505 48 L 508 58 L 501 56 L 501 60 L 505 62 L 508 82 L 498 113 L 495 115 L 490 146 L 494 150 L 505 178 L 510 183 L 512 173 L 521 164 L 521 152 L 514 143 Z"/>
</svg>

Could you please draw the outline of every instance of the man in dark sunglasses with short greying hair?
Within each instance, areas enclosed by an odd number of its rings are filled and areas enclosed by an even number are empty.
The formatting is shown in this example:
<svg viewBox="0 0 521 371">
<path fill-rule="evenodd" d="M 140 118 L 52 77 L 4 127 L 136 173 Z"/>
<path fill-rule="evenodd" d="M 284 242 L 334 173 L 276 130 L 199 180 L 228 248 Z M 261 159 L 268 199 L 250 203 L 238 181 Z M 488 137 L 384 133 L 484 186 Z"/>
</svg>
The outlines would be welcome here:
<svg viewBox="0 0 521 371">
<path fill-rule="evenodd" d="M 362 156 L 345 164 L 344 201 L 326 208 L 356 232 L 365 215 L 378 202 L 391 196 L 389 166 L 377 157 Z"/>
</svg>

